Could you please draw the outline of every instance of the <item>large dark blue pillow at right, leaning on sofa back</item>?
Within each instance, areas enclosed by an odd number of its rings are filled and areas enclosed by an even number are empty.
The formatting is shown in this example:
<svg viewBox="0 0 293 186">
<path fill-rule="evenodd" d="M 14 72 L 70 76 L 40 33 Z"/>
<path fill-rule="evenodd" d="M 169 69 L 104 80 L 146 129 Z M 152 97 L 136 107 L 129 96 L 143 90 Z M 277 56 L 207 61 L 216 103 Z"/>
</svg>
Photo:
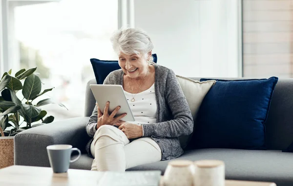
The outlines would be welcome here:
<svg viewBox="0 0 293 186">
<path fill-rule="evenodd" d="M 192 148 L 266 149 L 265 122 L 278 78 L 215 80 L 198 111 Z"/>
</svg>

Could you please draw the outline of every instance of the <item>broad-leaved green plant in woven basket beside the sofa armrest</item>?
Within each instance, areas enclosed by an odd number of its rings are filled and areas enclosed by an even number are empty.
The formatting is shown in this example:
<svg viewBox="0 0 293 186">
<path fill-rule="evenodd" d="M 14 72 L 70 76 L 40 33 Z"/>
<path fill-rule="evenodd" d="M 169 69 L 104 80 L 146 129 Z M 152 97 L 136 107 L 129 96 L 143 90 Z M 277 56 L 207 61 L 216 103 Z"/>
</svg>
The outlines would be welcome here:
<svg viewBox="0 0 293 186">
<path fill-rule="evenodd" d="M 21 69 L 14 76 L 9 70 L 0 79 L 0 168 L 14 163 L 16 134 L 54 120 L 54 116 L 46 116 L 47 112 L 41 107 L 55 102 L 51 98 L 40 100 L 40 96 L 53 88 L 42 91 L 41 79 L 34 73 L 36 69 Z"/>
</svg>

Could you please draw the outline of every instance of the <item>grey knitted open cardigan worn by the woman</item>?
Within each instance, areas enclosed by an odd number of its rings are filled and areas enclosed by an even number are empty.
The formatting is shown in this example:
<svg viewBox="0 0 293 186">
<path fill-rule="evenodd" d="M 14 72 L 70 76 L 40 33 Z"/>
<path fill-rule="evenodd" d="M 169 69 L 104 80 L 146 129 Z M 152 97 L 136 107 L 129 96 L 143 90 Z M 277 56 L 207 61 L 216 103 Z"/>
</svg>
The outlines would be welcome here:
<svg viewBox="0 0 293 186">
<path fill-rule="evenodd" d="M 183 154 L 179 136 L 187 136 L 193 131 L 193 120 L 186 97 L 175 73 L 163 66 L 155 67 L 155 94 L 157 102 L 157 123 L 142 124 L 143 137 L 151 137 L 162 150 L 162 160 L 171 160 Z M 123 70 L 112 71 L 104 84 L 123 85 Z M 97 107 L 94 108 L 86 132 L 90 137 L 97 131 Z M 86 145 L 90 154 L 91 139 Z"/>
</svg>

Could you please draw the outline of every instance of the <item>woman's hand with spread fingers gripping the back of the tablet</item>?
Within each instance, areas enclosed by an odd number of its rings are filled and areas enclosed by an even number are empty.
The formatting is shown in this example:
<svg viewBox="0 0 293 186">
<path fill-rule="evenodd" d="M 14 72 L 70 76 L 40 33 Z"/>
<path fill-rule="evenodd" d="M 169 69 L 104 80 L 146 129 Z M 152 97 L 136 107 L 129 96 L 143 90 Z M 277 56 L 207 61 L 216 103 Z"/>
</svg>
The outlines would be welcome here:
<svg viewBox="0 0 293 186">
<path fill-rule="evenodd" d="M 104 109 L 104 114 L 101 112 L 99 105 L 96 103 L 97 105 L 97 110 L 98 110 L 98 123 L 97 123 L 97 129 L 102 126 L 102 125 L 114 125 L 115 123 L 119 122 L 119 120 L 126 116 L 125 114 L 122 114 L 120 116 L 115 117 L 115 115 L 117 114 L 117 112 L 120 109 L 120 106 L 116 107 L 115 110 L 109 115 L 109 101 L 106 103 L 105 105 L 105 109 Z"/>
</svg>

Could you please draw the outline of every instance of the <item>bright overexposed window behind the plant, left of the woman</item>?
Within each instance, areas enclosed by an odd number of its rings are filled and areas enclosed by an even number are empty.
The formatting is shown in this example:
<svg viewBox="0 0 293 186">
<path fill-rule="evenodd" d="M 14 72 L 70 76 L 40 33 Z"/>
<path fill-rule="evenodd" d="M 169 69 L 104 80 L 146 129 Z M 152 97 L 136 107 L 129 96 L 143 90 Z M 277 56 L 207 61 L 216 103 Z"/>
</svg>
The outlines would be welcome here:
<svg viewBox="0 0 293 186">
<path fill-rule="evenodd" d="M 40 1 L 39 1 L 40 2 Z M 43 89 L 56 102 L 43 106 L 56 120 L 84 116 L 85 86 L 94 78 L 90 58 L 116 59 L 109 38 L 118 28 L 117 0 L 61 0 L 14 4 L 19 68 L 38 66 Z"/>
</svg>

